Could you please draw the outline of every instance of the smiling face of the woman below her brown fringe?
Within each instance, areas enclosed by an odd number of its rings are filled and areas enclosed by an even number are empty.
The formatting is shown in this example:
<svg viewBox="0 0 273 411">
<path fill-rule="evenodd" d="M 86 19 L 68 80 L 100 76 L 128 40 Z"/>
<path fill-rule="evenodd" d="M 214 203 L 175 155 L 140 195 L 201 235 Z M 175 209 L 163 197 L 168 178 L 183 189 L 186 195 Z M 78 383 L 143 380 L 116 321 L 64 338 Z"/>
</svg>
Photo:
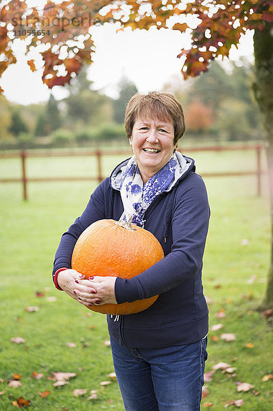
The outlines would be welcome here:
<svg viewBox="0 0 273 411">
<path fill-rule="evenodd" d="M 177 146 L 174 145 L 174 125 L 171 121 L 137 119 L 130 145 L 145 183 L 171 158 Z"/>
</svg>

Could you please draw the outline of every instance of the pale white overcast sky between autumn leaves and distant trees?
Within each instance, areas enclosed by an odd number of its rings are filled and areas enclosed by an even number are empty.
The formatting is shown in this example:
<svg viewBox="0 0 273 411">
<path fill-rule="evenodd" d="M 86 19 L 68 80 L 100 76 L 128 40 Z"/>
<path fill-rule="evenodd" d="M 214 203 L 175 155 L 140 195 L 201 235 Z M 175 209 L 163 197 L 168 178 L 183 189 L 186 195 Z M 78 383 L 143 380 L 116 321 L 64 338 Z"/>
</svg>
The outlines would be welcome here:
<svg viewBox="0 0 273 411">
<path fill-rule="evenodd" d="M 107 95 L 117 97 L 117 83 L 123 75 L 136 84 L 139 92 L 161 90 L 172 75 L 182 77 L 182 60 L 176 55 L 182 47 L 189 46 L 189 39 L 178 30 L 132 32 L 128 28 L 116 33 L 116 28 L 109 24 L 92 30 L 97 49 L 88 69 L 88 79 Z M 22 51 L 23 45 L 19 43 L 16 49 L 18 62 L 12 64 L 0 79 L 4 95 L 21 104 L 47 101 L 50 91 L 41 80 L 42 72 L 32 73 Z M 242 38 L 239 51 L 235 47 L 230 51 L 232 60 L 238 60 L 240 55 L 253 60 L 251 32 Z M 66 96 L 65 90 L 59 86 L 53 88 L 53 93 L 56 99 Z"/>
</svg>

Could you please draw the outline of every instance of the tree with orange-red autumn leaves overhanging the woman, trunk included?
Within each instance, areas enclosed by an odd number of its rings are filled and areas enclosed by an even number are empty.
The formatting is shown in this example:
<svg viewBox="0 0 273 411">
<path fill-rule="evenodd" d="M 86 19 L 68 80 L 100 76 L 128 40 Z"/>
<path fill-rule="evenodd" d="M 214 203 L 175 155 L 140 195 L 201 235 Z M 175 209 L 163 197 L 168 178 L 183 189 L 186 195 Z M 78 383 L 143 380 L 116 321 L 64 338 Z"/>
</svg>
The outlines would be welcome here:
<svg viewBox="0 0 273 411">
<path fill-rule="evenodd" d="M 254 29 L 255 82 L 254 91 L 265 127 L 265 142 L 270 169 L 272 238 L 273 238 L 273 5 L 272 0 L 204 0 L 182 2 L 181 0 L 96 0 L 63 1 L 56 5 L 47 3 L 40 12 L 36 8 L 27 11 L 25 2 L 10 1 L 8 7 L 1 5 L 0 24 L 0 76 L 9 64 L 16 62 L 12 51 L 14 38 L 9 35 L 14 29 L 40 29 L 43 23 L 44 36 L 34 35 L 26 43 L 40 51 L 45 69 L 43 82 L 52 88 L 64 85 L 80 71 L 84 62 L 92 62 L 93 40 L 88 28 L 104 21 L 119 21 L 121 28 L 178 29 L 191 33 L 190 49 L 182 49 L 178 58 L 184 58 L 182 74 L 185 79 L 207 71 L 209 62 L 218 56 L 228 57 L 230 47 L 237 46 L 247 29 Z M 75 27 L 75 16 L 81 20 Z M 192 18 L 189 17 L 193 16 Z M 14 18 L 16 17 L 16 18 Z M 51 23 L 54 21 L 58 25 Z M 46 23 L 46 24 L 45 24 Z M 79 22 L 77 22 L 79 23 Z M 65 27 L 64 27 L 65 24 Z M 50 26 L 50 30 L 47 27 Z M 25 32 L 23 32 L 23 28 Z M 71 41 L 73 39 L 73 41 Z M 30 68 L 36 70 L 36 62 L 28 60 Z M 64 75 L 62 75 L 64 73 Z M 273 242 L 272 264 L 269 275 L 265 304 L 273 303 Z"/>
</svg>

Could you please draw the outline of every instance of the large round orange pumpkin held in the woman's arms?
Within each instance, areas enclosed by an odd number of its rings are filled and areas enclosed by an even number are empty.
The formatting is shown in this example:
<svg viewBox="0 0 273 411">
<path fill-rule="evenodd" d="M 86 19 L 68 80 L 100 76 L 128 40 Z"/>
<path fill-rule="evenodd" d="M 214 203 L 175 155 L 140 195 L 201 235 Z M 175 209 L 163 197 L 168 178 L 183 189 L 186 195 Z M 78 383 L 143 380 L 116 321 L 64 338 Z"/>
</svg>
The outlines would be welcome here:
<svg viewBox="0 0 273 411">
<path fill-rule="evenodd" d="M 160 242 L 146 229 L 99 220 L 89 225 L 78 238 L 71 266 L 85 275 L 132 278 L 164 257 Z M 102 314 L 133 314 L 150 307 L 158 295 L 132 303 L 102 304 L 90 310 Z"/>
</svg>

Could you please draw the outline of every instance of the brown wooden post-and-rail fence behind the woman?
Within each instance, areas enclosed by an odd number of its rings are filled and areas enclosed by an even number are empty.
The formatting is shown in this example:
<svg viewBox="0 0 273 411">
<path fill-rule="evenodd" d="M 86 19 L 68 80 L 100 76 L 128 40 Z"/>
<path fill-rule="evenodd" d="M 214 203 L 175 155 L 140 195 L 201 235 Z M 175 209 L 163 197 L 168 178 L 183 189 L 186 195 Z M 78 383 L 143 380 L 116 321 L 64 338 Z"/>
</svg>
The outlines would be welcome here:
<svg viewBox="0 0 273 411">
<path fill-rule="evenodd" d="M 261 151 L 263 145 L 236 145 L 236 146 L 217 146 L 217 147 L 193 147 L 187 148 L 187 152 L 196 151 L 238 151 L 238 150 L 251 150 L 256 153 L 256 167 L 254 170 L 249 171 L 228 171 L 228 172 L 213 172 L 202 173 L 202 177 L 233 177 L 233 176 L 246 176 L 254 175 L 257 179 L 257 195 L 261 195 L 261 175 L 264 173 L 261 169 Z M 181 151 L 181 149 L 178 149 Z M 27 200 L 27 184 L 32 182 L 76 182 L 95 180 L 98 183 L 104 179 L 104 173 L 102 171 L 102 156 L 104 155 L 127 155 L 130 156 L 132 151 L 84 151 L 84 152 L 35 152 L 35 151 L 21 151 L 19 153 L 0 153 L 0 158 L 21 158 L 21 177 L 19 178 L 1 178 L 0 183 L 22 183 L 23 185 L 23 199 Z M 27 177 L 27 158 L 43 158 L 43 157 L 71 157 L 71 156 L 95 156 L 97 159 L 97 175 L 92 176 L 70 176 L 70 177 Z"/>
</svg>

